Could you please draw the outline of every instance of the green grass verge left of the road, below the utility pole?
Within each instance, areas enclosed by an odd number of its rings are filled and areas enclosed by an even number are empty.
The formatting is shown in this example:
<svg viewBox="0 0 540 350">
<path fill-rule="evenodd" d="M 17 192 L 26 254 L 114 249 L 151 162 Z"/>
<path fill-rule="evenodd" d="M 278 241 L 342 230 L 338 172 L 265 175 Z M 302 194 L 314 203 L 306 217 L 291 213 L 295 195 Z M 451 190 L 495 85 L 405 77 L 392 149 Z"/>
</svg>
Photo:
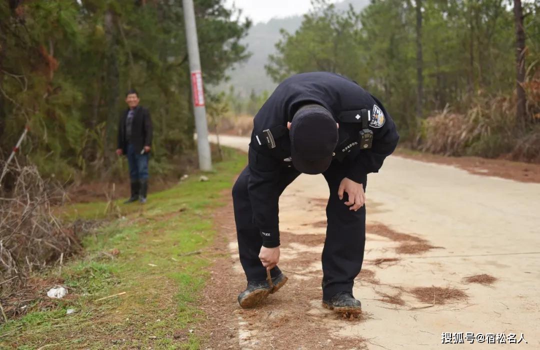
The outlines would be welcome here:
<svg viewBox="0 0 540 350">
<path fill-rule="evenodd" d="M 62 270 L 68 296 L 30 306 L 23 318 L 0 327 L 0 348 L 199 348 L 198 300 L 209 275 L 204 250 L 214 238 L 211 213 L 224 204 L 223 191 L 246 161 L 230 149 L 225 156 L 206 174 L 210 181 L 194 175 L 151 194 L 144 206 L 122 206 L 124 218 L 87 235 L 84 255 Z M 65 215 L 100 218 L 105 206 L 78 204 Z M 48 277 L 58 277 L 58 269 Z M 67 309 L 75 312 L 68 315 Z"/>
</svg>

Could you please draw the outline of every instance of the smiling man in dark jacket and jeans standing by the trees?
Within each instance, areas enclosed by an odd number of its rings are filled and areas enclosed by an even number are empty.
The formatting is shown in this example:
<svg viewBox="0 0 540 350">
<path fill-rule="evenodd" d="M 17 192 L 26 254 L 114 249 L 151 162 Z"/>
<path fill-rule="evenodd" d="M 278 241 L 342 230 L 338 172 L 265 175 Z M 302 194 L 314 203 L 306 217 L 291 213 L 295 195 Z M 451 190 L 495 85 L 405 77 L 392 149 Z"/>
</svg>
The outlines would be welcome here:
<svg viewBox="0 0 540 350">
<path fill-rule="evenodd" d="M 152 119 L 149 111 L 139 106 L 136 90 L 126 93 L 129 108 L 120 116 L 118 125 L 118 156 L 125 154 L 130 170 L 131 197 L 125 203 L 140 200 L 146 203 L 148 191 L 148 159 L 152 144 Z"/>
</svg>

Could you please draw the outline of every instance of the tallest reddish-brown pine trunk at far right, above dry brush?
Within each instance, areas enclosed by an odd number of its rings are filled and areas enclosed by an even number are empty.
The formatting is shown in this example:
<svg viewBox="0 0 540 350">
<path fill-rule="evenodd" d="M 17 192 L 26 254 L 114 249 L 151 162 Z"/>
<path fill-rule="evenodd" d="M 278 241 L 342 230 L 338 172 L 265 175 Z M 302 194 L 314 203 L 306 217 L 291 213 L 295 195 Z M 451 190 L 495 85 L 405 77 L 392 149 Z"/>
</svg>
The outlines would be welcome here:
<svg viewBox="0 0 540 350">
<path fill-rule="evenodd" d="M 527 120 L 525 115 L 525 30 L 523 29 L 523 8 L 521 0 L 514 0 L 514 19 L 516 23 L 516 118 L 517 125 L 524 127 Z"/>
</svg>

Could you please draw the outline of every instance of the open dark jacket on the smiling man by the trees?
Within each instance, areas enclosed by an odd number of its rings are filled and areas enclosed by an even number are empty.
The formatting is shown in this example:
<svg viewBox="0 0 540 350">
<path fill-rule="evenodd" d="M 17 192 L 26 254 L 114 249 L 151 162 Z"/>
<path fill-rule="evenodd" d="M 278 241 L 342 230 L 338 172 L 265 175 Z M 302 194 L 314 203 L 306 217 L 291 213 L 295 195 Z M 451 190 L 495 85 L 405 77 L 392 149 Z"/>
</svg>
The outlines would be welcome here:
<svg viewBox="0 0 540 350">
<path fill-rule="evenodd" d="M 127 154 L 127 112 L 129 109 L 122 113 L 118 124 L 118 148 L 122 149 L 124 154 Z M 138 153 L 143 150 L 144 146 L 152 145 L 152 119 L 150 119 L 150 112 L 143 106 L 137 106 L 134 110 L 130 143 Z"/>
</svg>

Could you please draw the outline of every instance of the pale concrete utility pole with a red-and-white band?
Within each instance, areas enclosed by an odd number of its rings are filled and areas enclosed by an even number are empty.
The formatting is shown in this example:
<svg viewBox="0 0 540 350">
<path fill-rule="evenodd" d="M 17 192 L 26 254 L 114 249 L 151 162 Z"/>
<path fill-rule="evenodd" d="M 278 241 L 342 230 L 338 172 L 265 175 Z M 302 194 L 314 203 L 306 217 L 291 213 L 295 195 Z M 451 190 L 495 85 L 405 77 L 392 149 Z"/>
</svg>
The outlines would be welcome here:
<svg viewBox="0 0 540 350">
<path fill-rule="evenodd" d="M 195 113 L 195 129 L 197 130 L 197 151 L 199 152 L 199 169 L 212 170 L 212 157 L 208 143 L 208 125 L 203 89 L 203 73 L 199 57 L 197 25 L 193 0 L 182 0 L 184 5 L 184 22 L 186 24 L 187 54 L 190 59 L 191 92 L 193 94 L 193 111 Z"/>
</svg>

